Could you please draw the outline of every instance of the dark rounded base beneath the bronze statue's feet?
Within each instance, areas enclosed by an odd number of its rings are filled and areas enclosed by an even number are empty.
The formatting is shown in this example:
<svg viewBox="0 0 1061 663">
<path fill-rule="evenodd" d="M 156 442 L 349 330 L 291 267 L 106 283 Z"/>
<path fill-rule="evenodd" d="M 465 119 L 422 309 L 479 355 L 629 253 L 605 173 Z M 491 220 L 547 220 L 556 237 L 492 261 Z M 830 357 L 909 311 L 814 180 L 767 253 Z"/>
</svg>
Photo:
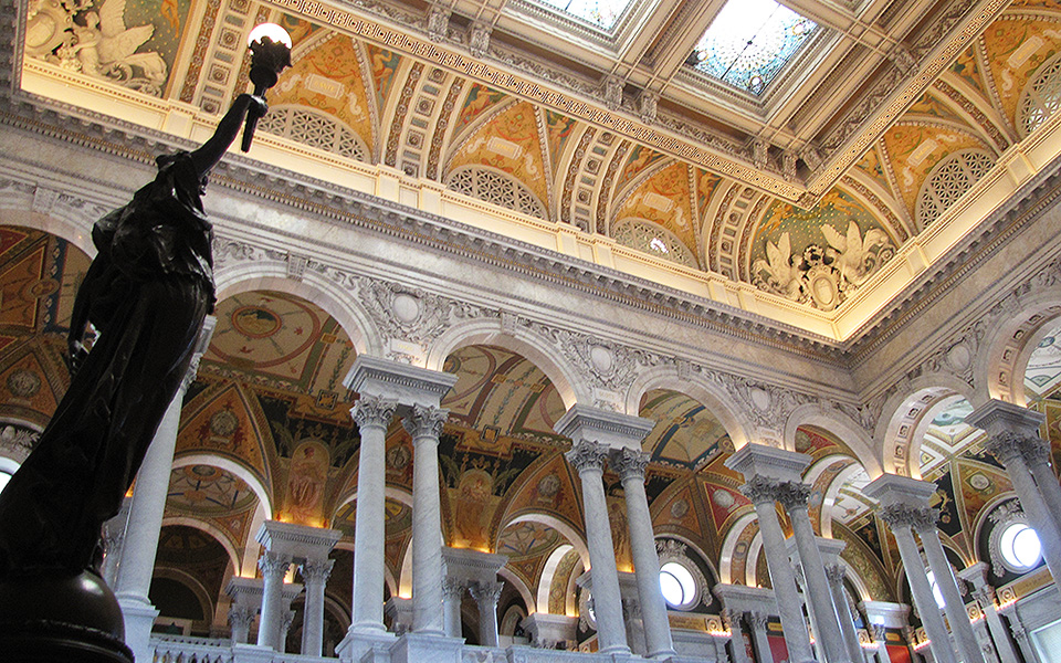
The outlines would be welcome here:
<svg viewBox="0 0 1061 663">
<path fill-rule="evenodd" d="M 6 663 L 133 663 L 125 621 L 95 573 L 27 575 L 0 581 L 0 659 Z"/>
</svg>

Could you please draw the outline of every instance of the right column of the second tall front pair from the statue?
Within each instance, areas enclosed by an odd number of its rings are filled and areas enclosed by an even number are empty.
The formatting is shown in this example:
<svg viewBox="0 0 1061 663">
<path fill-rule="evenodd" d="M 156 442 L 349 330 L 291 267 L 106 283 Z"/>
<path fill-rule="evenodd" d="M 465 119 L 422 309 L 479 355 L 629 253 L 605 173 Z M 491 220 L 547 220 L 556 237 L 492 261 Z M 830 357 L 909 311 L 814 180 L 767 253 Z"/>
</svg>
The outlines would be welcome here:
<svg viewBox="0 0 1061 663">
<path fill-rule="evenodd" d="M 611 465 L 622 480 L 647 655 L 650 659 L 663 659 L 673 656 L 675 652 L 666 602 L 660 589 L 660 557 L 655 550 L 652 515 L 644 492 L 644 467 L 648 462 L 648 454 L 630 448 L 616 450 L 611 456 Z"/>
</svg>

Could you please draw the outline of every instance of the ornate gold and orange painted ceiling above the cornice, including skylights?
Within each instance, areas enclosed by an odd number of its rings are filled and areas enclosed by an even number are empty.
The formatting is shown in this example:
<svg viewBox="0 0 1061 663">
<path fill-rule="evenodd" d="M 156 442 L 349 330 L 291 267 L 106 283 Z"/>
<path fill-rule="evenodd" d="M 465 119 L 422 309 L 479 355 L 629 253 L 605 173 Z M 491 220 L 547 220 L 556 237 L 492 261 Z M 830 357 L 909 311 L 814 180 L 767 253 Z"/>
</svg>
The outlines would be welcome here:
<svg viewBox="0 0 1061 663">
<path fill-rule="evenodd" d="M 282 152 L 395 168 L 827 313 L 1061 97 L 1054 0 L 805 0 L 763 25 L 708 0 L 565 7 L 34 0 L 23 81 L 209 124 L 272 20 L 294 41 L 261 125 Z M 726 60 L 729 23 L 773 55 Z"/>
</svg>

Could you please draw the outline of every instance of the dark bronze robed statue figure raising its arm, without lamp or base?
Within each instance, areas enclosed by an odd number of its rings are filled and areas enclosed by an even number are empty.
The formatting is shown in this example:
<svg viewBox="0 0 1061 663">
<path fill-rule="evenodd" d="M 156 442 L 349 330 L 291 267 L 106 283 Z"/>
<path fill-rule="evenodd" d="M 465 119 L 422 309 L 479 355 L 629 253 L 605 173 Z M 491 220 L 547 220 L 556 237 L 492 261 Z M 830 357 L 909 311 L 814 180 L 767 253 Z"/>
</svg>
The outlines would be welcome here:
<svg viewBox="0 0 1061 663">
<path fill-rule="evenodd" d="M 118 513 L 213 308 L 201 194 L 248 113 L 264 115 L 264 99 L 238 97 L 210 140 L 159 157 L 155 180 L 96 222 L 98 254 L 71 316 L 70 389 L 0 495 L 0 580 L 98 564 L 101 526 Z"/>
</svg>

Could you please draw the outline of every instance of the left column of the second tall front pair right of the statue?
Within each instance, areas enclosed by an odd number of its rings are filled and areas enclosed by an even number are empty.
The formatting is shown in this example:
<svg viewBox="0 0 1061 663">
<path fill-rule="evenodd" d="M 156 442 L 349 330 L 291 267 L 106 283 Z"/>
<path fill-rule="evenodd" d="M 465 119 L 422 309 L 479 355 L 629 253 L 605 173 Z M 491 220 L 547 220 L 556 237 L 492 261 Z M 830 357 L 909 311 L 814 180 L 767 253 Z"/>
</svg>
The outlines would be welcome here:
<svg viewBox="0 0 1061 663">
<path fill-rule="evenodd" d="M 592 570 L 593 612 L 597 615 L 597 639 L 606 654 L 629 652 L 627 629 L 622 620 L 622 596 L 619 592 L 619 570 L 616 567 L 614 544 L 608 520 L 608 503 L 602 483 L 605 445 L 580 441 L 566 456 L 578 472 L 582 487 L 582 511 L 586 518 L 586 539 Z"/>
</svg>

